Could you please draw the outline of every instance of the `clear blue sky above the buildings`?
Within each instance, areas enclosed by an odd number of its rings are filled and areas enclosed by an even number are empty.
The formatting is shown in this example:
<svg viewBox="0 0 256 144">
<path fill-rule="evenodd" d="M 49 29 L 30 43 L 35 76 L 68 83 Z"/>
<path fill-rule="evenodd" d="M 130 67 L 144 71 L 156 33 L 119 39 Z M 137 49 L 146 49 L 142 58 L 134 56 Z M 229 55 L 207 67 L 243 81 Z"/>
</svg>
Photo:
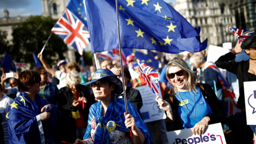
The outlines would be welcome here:
<svg viewBox="0 0 256 144">
<path fill-rule="evenodd" d="M 164 1 L 175 3 L 176 0 Z M 0 18 L 4 17 L 4 9 L 9 11 L 9 17 L 35 16 L 43 13 L 41 0 L 0 0 Z"/>
</svg>

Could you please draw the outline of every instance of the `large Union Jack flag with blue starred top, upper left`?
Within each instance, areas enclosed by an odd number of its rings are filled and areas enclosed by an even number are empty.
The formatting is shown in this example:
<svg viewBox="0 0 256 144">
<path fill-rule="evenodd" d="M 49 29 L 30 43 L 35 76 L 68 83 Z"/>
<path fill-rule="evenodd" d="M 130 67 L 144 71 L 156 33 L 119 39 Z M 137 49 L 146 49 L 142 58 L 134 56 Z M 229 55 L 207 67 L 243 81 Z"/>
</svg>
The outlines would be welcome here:
<svg viewBox="0 0 256 144">
<path fill-rule="evenodd" d="M 74 47 L 79 54 L 89 43 L 89 31 L 83 0 L 71 0 L 52 32 Z"/>
</svg>

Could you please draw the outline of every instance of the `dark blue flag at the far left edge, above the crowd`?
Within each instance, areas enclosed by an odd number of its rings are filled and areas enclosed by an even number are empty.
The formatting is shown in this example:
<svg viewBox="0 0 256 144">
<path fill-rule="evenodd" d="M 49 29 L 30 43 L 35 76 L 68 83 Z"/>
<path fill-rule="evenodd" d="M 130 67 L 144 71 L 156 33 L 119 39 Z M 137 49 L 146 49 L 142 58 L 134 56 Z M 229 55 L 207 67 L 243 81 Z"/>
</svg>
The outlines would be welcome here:
<svg viewBox="0 0 256 144">
<path fill-rule="evenodd" d="M 10 55 L 7 54 L 6 52 L 4 54 L 4 59 L 2 61 L 1 67 L 3 67 L 4 73 L 8 73 L 10 70 L 16 72 L 15 64 L 12 61 L 12 58 L 10 57 Z"/>
</svg>

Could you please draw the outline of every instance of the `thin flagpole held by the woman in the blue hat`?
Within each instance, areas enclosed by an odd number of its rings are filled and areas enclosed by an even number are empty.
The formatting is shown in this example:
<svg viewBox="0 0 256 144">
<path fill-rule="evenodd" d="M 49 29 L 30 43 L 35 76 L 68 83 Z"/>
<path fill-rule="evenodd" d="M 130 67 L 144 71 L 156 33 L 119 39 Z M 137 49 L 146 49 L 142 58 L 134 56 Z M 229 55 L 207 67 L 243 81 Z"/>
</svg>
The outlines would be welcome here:
<svg viewBox="0 0 256 144">
<path fill-rule="evenodd" d="M 122 60 L 121 38 L 120 38 L 119 18 L 118 18 L 118 1 L 117 0 L 116 0 L 116 18 L 117 18 L 119 55 L 120 55 L 121 73 L 122 73 L 122 82 L 123 82 L 124 105 L 125 105 L 125 112 L 126 112 L 126 114 L 128 114 L 129 111 L 128 111 L 128 108 L 127 108 L 127 99 L 126 99 L 125 86 L 124 86 L 124 69 L 123 69 L 123 60 Z"/>
</svg>

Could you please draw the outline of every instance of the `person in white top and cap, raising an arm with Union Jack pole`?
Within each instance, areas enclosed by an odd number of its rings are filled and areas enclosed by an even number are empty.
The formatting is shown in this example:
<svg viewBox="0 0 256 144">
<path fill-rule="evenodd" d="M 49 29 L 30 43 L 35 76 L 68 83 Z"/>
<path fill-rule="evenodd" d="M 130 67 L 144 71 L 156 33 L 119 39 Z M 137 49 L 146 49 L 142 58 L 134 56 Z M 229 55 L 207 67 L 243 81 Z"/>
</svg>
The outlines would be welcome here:
<svg viewBox="0 0 256 144">
<path fill-rule="evenodd" d="M 51 66 L 48 65 L 48 63 L 46 63 L 46 61 L 43 58 L 43 55 L 38 53 L 37 58 L 42 62 L 43 67 L 45 68 L 45 70 L 50 73 L 53 77 L 56 77 L 57 79 L 59 79 L 59 84 L 57 85 L 58 89 L 61 89 L 61 87 L 65 87 L 65 76 L 66 76 L 66 65 L 67 65 L 67 61 L 65 60 L 60 60 L 57 64 L 58 68 L 60 70 L 55 70 L 53 68 L 51 68 Z"/>
</svg>

